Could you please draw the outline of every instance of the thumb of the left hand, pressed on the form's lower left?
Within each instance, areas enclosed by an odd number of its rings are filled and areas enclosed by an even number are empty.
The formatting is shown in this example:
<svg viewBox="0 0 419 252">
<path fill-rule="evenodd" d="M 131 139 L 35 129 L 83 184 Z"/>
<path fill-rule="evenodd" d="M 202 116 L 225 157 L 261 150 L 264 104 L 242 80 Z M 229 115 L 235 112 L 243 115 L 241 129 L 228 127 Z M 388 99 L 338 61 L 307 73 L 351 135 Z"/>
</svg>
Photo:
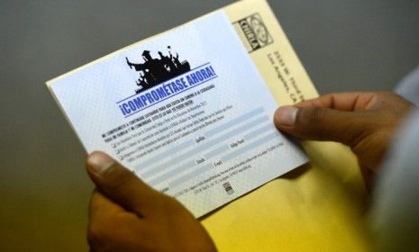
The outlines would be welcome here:
<svg viewBox="0 0 419 252">
<path fill-rule="evenodd" d="M 87 174 L 100 193 L 141 217 L 152 211 L 153 202 L 162 195 L 103 152 L 87 157 Z"/>
</svg>

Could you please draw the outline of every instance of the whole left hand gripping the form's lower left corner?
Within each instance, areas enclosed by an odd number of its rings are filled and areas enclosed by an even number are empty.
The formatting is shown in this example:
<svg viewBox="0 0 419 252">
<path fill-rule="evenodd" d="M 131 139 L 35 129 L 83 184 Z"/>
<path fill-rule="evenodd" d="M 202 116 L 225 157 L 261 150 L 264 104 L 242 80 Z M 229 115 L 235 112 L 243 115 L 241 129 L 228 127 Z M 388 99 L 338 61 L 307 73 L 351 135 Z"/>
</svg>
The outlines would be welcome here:
<svg viewBox="0 0 419 252">
<path fill-rule="evenodd" d="M 91 251 L 215 251 L 198 220 L 102 152 L 87 157 L 96 184 L 89 211 Z"/>
</svg>

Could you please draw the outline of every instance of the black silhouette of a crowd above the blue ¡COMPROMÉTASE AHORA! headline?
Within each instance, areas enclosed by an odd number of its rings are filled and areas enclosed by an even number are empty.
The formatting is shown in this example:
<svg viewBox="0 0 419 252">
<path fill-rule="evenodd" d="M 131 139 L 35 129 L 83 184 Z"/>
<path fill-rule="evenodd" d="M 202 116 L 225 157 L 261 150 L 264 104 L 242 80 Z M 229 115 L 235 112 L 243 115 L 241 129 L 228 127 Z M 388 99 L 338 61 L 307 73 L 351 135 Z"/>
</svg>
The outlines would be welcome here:
<svg viewBox="0 0 419 252">
<path fill-rule="evenodd" d="M 135 81 L 140 88 L 135 90 L 135 93 L 139 94 L 154 85 L 158 85 L 190 70 L 187 60 L 180 62 L 178 53 L 176 53 L 176 56 L 173 56 L 170 46 L 168 46 L 168 49 L 169 56 L 159 51 L 159 58 L 152 58 L 150 50 L 144 50 L 142 52 L 144 63 L 132 63 L 125 57 L 128 66 L 130 68 L 134 67 L 135 71 L 140 72 L 138 80 Z"/>
</svg>

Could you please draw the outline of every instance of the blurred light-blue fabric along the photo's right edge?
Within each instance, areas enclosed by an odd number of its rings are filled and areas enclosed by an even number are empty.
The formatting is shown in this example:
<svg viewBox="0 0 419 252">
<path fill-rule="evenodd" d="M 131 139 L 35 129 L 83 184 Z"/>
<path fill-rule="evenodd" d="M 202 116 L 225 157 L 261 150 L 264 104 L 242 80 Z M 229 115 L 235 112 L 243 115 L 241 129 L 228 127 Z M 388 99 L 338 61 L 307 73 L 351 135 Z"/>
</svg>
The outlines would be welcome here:
<svg viewBox="0 0 419 252">
<path fill-rule="evenodd" d="M 405 121 L 378 174 L 370 212 L 377 251 L 419 251 L 419 110 Z"/>
</svg>

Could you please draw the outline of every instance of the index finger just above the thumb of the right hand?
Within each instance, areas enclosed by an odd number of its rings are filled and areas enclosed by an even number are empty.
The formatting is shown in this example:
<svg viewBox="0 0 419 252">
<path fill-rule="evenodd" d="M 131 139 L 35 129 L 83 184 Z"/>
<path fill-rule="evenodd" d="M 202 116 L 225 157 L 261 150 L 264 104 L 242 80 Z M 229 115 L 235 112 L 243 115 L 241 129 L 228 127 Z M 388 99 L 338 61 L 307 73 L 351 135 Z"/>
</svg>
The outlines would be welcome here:
<svg viewBox="0 0 419 252">
<path fill-rule="evenodd" d="M 373 92 L 348 92 L 324 94 L 318 98 L 296 103 L 296 107 L 321 107 L 340 111 L 365 110 L 377 100 L 377 94 Z"/>
</svg>

